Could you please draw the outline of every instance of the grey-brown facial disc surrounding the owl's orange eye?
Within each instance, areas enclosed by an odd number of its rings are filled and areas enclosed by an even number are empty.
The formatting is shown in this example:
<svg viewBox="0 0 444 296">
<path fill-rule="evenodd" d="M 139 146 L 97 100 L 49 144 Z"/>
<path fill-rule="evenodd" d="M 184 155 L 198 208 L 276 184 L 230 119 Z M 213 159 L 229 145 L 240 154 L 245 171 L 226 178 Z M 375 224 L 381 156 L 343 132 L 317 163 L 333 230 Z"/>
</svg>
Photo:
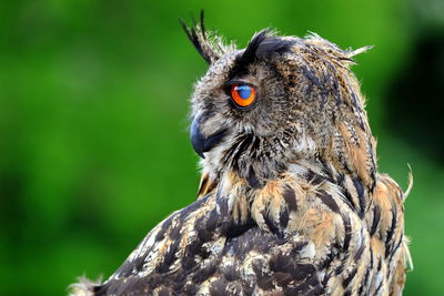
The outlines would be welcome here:
<svg viewBox="0 0 444 296">
<path fill-rule="evenodd" d="M 192 116 L 200 119 L 205 136 L 226 130 L 226 136 L 269 137 L 290 123 L 292 101 L 275 63 L 263 59 L 240 64 L 243 52 L 215 61 L 195 86 Z"/>
</svg>

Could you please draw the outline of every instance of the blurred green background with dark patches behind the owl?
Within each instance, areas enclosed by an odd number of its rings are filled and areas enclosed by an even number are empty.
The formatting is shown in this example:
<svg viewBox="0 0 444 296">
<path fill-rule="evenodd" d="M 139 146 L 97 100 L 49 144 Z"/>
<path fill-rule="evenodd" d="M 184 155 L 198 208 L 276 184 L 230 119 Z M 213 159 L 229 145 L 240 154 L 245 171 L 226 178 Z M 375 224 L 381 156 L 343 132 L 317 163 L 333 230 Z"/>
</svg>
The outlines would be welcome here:
<svg viewBox="0 0 444 296">
<path fill-rule="evenodd" d="M 0 294 L 64 295 L 108 277 L 194 200 L 192 84 L 206 64 L 182 32 L 244 47 L 273 27 L 343 48 L 369 98 L 380 171 L 404 188 L 414 271 L 405 295 L 443 295 L 444 1 L 0 1 Z"/>
</svg>

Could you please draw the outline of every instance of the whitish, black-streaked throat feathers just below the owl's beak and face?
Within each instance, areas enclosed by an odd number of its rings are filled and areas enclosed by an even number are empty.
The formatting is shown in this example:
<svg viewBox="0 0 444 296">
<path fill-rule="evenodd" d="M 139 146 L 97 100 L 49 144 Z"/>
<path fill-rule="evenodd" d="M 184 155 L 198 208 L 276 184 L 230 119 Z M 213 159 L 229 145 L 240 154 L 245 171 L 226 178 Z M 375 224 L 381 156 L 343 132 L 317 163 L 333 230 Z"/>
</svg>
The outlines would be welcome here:
<svg viewBox="0 0 444 296">
<path fill-rule="evenodd" d="M 314 141 L 289 126 L 283 133 L 268 136 L 239 133 L 205 153 L 201 166 L 203 174 L 218 183 L 235 174 L 248 187 L 260 190 L 279 178 L 295 160 L 315 163 L 316 159 Z"/>
</svg>

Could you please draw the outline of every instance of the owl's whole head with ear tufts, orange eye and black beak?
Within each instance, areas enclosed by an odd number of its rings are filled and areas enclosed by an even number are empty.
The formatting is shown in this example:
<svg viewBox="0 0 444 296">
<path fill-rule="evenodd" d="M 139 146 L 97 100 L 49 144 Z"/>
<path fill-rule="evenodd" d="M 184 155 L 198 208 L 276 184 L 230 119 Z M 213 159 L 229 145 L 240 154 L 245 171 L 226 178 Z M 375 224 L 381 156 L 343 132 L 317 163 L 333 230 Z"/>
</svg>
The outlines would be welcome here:
<svg viewBox="0 0 444 296">
<path fill-rule="evenodd" d="M 365 49 L 263 30 L 239 50 L 206 32 L 203 16 L 183 28 L 210 65 L 191 99 L 191 142 L 213 180 L 233 171 L 258 188 L 303 162 L 333 165 L 370 185 L 374 144 L 350 71 Z"/>
</svg>

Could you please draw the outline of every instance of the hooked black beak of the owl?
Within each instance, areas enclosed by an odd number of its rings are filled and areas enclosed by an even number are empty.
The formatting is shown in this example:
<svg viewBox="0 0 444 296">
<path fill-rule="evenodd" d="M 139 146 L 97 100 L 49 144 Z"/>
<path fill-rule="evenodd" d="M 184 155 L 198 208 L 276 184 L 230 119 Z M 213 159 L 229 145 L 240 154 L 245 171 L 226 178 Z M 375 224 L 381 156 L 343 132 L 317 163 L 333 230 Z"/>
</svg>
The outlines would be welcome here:
<svg viewBox="0 0 444 296">
<path fill-rule="evenodd" d="M 198 153 L 202 159 L 205 159 L 203 153 L 209 152 L 212 147 L 218 145 L 226 135 L 226 130 L 222 130 L 210 135 L 209 137 L 205 137 L 201 132 L 200 125 L 201 116 L 195 116 L 193 123 L 191 124 L 190 137 L 195 153 Z"/>
</svg>

